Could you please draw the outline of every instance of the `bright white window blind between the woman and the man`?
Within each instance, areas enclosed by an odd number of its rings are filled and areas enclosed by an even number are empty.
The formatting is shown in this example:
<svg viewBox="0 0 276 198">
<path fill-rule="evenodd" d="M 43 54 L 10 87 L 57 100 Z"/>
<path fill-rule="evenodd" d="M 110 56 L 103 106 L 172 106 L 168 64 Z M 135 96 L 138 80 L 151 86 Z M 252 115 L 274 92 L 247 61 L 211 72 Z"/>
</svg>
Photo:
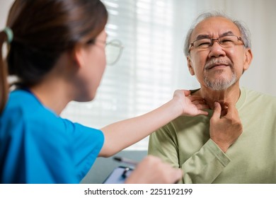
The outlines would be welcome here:
<svg viewBox="0 0 276 198">
<path fill-rule="evenodd" d="M 170 100 L 176 88 L 190 86 L 190 82 L 182 83 L 188 76 L 188 69 L 182 71 L 187 67 L 182 50 L 187 25 L 182 18 L 185 9 L 179 6 L 185 1 L 103 3 L 109 13 L 108 40 L 122 41 L 122 56 L 107 66 L 95 100 L 71 102 L 62 112 L 62 117 L 94 128 L 149 112 Z M 147 145 L 148 137 L 127 149 L 146 150 Z"/>
</svg>

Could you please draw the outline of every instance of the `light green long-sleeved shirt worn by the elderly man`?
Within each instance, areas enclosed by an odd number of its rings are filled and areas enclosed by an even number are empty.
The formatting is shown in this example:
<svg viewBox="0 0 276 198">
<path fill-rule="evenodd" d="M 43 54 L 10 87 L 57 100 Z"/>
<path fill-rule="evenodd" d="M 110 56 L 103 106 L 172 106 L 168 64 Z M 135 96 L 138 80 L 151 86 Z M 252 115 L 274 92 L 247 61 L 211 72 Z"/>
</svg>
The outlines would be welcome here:
<svg viewBox="0 0 276 198">
<path fill-rule="evenodd" d="M 276 183 L 276 98 L 241 88 L 243 133 L 224 153 L 209 116 L 178 117 L 149 138 L 149 154 L 182 168 L 182 183 Z"/>
</svg>

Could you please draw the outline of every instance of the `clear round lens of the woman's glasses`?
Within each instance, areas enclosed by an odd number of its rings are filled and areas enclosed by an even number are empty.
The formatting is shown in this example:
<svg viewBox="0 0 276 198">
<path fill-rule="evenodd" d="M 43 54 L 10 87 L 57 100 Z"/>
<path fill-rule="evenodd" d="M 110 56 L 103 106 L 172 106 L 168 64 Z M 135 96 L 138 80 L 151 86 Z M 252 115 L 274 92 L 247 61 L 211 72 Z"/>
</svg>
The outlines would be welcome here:
<svg viewBox="0 0 276 198">
<path fill-rule="evenodd" d="M 111 40 L 105 46 L 106 62 L 109 65 L 115 64 L 122 52 L 122 42 L 120 40 Z"/>
</svg>

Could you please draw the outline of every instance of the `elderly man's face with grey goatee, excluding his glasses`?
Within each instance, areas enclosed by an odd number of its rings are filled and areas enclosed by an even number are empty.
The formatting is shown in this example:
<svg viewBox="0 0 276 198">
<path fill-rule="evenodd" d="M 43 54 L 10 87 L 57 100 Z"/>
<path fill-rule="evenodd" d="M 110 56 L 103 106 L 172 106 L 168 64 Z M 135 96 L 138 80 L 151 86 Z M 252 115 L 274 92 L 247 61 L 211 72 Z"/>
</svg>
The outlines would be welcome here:
<svg viewBox="0 0 276 198">
<path fill-rule="evenodd" d="M 200 22 L 192 32 L 190 42 L 202 37 L 217 38 L 222 35 L 241 37 L 238 27 L 226 18 L 212 17 Z M 201 86 L 212 90 L 224 90 L 238 82 L 248 69 L 252 54 L 239 41 L 234 47 L 222 47 L 217 40 L 205 49 L 190 48 L 188 68 Z"/>
</svg>

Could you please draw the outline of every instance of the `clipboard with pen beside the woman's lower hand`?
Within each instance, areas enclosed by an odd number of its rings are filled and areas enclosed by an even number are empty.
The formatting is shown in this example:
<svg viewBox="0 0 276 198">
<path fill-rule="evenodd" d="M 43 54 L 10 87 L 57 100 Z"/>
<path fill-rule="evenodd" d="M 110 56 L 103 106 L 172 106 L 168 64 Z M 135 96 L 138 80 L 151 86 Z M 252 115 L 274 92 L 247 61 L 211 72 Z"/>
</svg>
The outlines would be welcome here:
<svg viewBox="0 0 276 198">
<path fill-rule="evenodd" d="M 123 184 L 134 169 L 122 166 L 115 168 L 110 175 L 103 181 L 103 184 Z"/>
</svg>

